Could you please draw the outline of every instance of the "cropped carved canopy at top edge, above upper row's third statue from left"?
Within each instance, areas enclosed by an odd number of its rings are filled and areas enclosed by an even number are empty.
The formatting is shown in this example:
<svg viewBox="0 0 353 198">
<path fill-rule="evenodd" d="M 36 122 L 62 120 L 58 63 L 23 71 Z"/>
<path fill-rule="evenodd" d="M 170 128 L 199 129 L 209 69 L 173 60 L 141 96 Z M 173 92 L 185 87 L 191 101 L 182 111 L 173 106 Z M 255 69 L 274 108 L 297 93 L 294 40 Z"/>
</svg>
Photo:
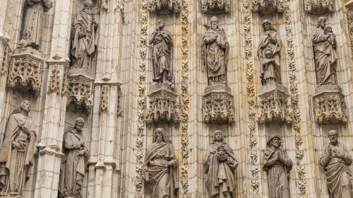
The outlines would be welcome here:
<svg viewBox="0 0 353 198">
<path fill-rule="evenodd" d="M 179 13 L 181 11 L 181 0 L 148 0 L 148 11 L 174 11 Z"/>
</svg>

